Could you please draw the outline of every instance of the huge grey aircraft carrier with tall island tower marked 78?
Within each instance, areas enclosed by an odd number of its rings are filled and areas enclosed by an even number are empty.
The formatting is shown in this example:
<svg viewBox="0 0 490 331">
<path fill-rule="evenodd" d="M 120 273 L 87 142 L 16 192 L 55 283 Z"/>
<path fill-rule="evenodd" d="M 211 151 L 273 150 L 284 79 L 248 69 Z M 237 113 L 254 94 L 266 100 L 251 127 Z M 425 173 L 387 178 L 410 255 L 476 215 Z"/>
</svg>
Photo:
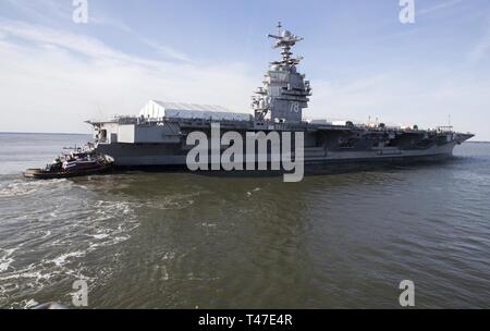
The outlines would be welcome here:
<svg viewBox="0 0 490 331">
<path fill-rule="evenodd" d="M 95 128 L 95 150 L 112 157 L 119 167 L 185 168 L 194 147 L 187 145 L 187 136 L 196 131 L 211 135 L 212 125 L 219 123 L 222 133 L 234 131 L 244 137 L 249 132 L 302 132 L 305 164 L 336 167 L 448 158 L 456 145 L 474 136 L 454 132 L 451 126 L 422 130 L 417 125 L 305 120 L 303 111 L 308 108 L 311 87 L 297 70 L 303 58 L 293 57 L 291 51 L 303 38 L 278 27 L 279 33 L 269 37 L 281 57 L 270 63 L 262 86 L 253 97 L 253 114 L 229 112 L 219 106 L 151 100 L 139 115 L 88 121 Z"/>
</svg>

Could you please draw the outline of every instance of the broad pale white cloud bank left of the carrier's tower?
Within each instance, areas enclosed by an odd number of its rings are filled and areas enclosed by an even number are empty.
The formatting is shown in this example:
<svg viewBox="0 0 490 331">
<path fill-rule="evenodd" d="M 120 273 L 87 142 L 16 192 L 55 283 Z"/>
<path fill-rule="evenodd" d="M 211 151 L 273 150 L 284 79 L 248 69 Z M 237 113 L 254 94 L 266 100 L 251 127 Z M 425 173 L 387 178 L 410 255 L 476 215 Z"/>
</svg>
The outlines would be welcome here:
<svg viewBox="0 0 490 331">
<path fill-rule="evenodd" d="M 243 63 L 156 61 L 79 34 L 0 22 L 0 131 L 82 132 L 83 121 L 136 114 L 149 99 L 249 111 Z"/>
</svg>

